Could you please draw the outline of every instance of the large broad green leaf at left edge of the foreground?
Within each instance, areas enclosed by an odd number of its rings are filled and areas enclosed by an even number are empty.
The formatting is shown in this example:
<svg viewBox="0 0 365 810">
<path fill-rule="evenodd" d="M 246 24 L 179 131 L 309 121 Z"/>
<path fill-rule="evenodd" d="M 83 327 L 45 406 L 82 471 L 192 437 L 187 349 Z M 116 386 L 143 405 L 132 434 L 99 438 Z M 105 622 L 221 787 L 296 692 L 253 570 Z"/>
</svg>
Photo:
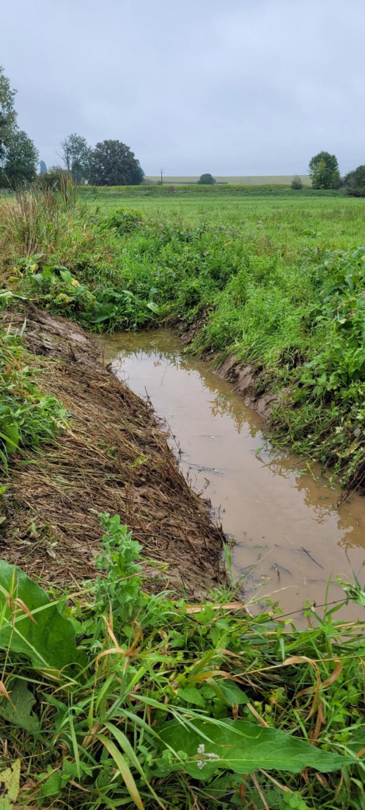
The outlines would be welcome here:
<svg viewBox="0 0 365 810">
<path fill-rule="evenodd" d="M 26 612 L 16 607 L 13 621 L 6 602 L 15 572 L 15 593 L 32 613 L 32 621 Z M 14 603 L 13 603 L 14 604 Z M 57 604 L 21 569 L 0 560 L 0 649 L 10 647 L 15 653 L 26 655 L 38 669 L 57 671 L 70 663 L 81 663 L 84 656 L 75 645 L 75 633 L 71 622 L 57 610 Z"/>
</svg>

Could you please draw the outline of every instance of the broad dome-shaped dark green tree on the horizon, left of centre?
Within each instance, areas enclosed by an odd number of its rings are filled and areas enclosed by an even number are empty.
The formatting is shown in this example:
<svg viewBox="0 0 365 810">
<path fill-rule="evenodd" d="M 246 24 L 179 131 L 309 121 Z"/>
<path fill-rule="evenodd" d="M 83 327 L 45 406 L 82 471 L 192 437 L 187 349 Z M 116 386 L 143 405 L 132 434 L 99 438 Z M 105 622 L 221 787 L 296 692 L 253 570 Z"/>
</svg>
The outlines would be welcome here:
<svg viewBox="0 0 365 810">
<path fill-rule="evenodd" d="M 143 177 L 139 160 L 125 143 L 112 140 L 96 143 L 89 168 L 92 185 L 139 185 Z"/>
</svg>

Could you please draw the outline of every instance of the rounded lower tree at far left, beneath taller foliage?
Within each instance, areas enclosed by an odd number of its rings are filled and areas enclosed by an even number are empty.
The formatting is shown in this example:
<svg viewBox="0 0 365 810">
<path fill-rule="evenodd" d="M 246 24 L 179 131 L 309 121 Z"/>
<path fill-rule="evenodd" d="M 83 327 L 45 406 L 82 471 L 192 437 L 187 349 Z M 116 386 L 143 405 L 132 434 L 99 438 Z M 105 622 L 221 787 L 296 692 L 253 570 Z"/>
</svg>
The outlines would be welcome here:
<svg viewBox="0 0 365 810">
<path fill-rule="evenodd" d="M 11 143 L 6 149 L 2 165 L 6 185 L 15 187 L 31 183 L 36 179 L 38 151 L 32 140 L 23 130 L 16 130 L 11 136 Z"/>
</svg>

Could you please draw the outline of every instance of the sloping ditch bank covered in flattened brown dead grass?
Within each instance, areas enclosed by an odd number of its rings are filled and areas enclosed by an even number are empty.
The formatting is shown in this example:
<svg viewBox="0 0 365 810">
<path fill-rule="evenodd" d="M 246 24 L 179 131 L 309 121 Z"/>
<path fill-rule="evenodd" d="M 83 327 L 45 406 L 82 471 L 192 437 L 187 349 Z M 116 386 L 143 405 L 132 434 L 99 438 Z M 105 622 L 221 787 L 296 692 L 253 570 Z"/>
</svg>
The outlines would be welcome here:
<svg viewBox="0 0 365 810">
<path fill-rule="evenodd" d="M 23 340 L 42 369 L 38 384 L 62 400 L 70 423 L 57 445 L 12 458 L 0 555 L 46 581 L 79 582 L 95 575 L 98 513 L 118 513 L 144 554 L 168 564 L 160 586 L 170 581 L 199 597 L 219 580 L 223 538 L 153 412 L 104 369 L 78 326 L 37 309 L 26 316 Z M 2 321 L 18 328 L 24 313 L 3 313 Z"/>
</svg>

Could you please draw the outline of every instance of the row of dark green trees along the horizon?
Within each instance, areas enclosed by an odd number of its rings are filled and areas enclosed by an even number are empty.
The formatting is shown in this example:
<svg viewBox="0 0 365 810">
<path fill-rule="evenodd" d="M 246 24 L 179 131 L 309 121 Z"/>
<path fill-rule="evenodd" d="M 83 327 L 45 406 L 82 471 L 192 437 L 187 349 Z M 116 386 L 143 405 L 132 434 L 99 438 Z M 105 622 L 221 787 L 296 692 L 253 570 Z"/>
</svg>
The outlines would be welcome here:
<svg viewBox="0 0 365 810">
<path fill-rule="evenodd" d="M 73 133 L 64 138 L 57 155 L 62 165 L 47 169 L 32 139 L 19 129 L 14 100 L 16 91 L 0 66 L 0 188 L 16 188 L 38 181 L 40 185 L 57 185 L 62 173 L 71 175 L 76 183 L 91 185 L 139 185 L 144 172 L 134 152 L 119 140 L 104 140 L 91 148 L 82 135 Z M 38 173 L 38 166 L 40 170 Z M 365 197 L 365 164 L 340 176 L 337 157 L 320 151 L 309 161 L 313 189 L 343 188 L 354 197 Z M 212 185 L 214 177 L 202 174 L 198 183 Z M 291 181 L 293 190 L 303 188 L 298 175 Z"/>
</svg>

